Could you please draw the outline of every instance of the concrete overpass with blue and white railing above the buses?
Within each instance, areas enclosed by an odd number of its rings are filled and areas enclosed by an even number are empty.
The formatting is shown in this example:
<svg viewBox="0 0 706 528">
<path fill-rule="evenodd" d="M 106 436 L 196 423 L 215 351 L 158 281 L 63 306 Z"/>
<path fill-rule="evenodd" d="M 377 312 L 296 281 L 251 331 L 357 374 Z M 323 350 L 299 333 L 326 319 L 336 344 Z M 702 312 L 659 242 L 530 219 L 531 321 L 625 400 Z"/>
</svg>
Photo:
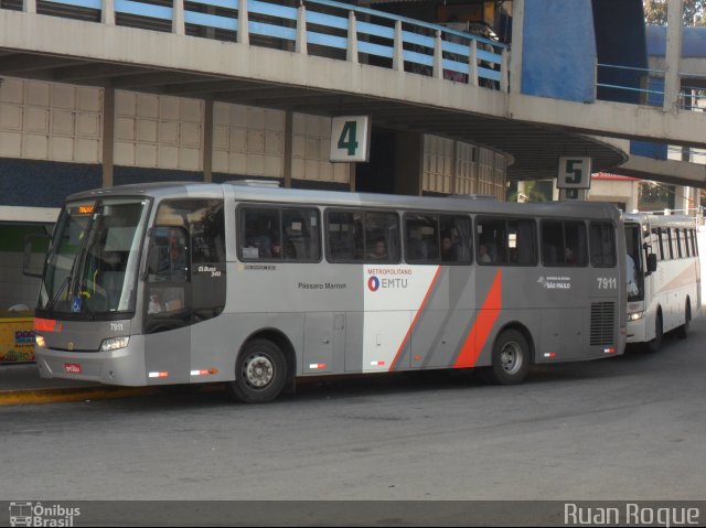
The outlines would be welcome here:
<svg viewBox="0 0 706 528">
<path fill-rule="evenodd" d="M 0 77 L 99 86 L 106 103 L 115 89 L 128 89 L 199 98 L 211 109 L 232 101 L 370 115 L 387 128 L 502 151 L 513 160 L 510 179 L 555 177 L 565 155 L 614 170 L 629 160 L 628 139 L 706 148 L 702 112 L 526 95 L 518 89 L 520 44 L 511 52 L 467 32 L 332 0 L 298 8 L 276 0 L 0 6 Z M 114 116 L 106 109 L 108 139 Z M 113 155 L 107 143 L 104 168 Z M 691 165 L 651 177 L 706 185 L 703 168 Z"/>
</svg>

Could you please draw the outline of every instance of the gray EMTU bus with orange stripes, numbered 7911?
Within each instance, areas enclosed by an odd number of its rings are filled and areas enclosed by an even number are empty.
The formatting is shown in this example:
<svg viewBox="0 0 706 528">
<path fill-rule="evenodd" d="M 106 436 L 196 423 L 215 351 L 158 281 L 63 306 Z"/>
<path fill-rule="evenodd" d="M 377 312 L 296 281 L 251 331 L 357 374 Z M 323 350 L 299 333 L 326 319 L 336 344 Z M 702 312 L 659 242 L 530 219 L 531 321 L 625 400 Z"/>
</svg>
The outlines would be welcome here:
<svg viewBox="0 0 706 528">
<path fill-rule="evenodd" d="M 619 250 L 620 248 L 620 250 Z M 254 183 L 69 196 L 36 306 L 44 377 L 227 382 L 247 402 L 297 378 L 621 354 L 614 206 L 510 204 Z"/>
</svg>

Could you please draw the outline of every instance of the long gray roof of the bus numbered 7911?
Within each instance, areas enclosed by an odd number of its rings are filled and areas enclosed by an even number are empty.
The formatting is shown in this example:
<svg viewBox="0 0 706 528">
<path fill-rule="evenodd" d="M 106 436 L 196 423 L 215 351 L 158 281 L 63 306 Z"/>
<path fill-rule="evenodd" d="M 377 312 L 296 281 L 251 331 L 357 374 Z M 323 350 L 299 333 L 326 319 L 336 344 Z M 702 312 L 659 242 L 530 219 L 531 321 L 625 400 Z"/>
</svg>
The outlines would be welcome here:
<svg viewBox="0 0 706 528">
<path fill-rule="evenodd" d="M 66 200 L 87 200 L 105 196 L 145 196 L 157 200 L 180 197 L 225 197 L 237 202 L 276 202 L 297 205 L 389 207 L 416 211 L 448 211 L 457 213 L 506 214 L 609 218 L 618 220 L 620 212 L 613 204 L 601 202 L 547 202 L 517 204 L 500 202 L 488 195 L 409 196 L 394 194 L 352 193 L 272 187 L 270 185 L 226 182 L 164 182 L 118 185 L 72 194 Z"/>
</svg>

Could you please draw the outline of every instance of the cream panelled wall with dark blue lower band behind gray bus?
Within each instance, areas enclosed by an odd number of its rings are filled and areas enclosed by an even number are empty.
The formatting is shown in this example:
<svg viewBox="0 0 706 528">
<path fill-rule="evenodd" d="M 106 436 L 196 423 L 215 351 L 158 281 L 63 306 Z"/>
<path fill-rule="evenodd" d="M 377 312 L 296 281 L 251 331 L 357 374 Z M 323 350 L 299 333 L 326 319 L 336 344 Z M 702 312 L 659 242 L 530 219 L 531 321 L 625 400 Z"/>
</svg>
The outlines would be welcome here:
<svg viewBox="0 0 706 528">
<path fill-rule="evenodd" d="M 101 88 L 4 77 L 0 84 L 0 206 L 58 207 L 103 185 Z M 116 90 L 116 185 L 203 181 L 205 103 Z M 293 186 L 347 188 L 350 165 L 329 162 L 331 119 L 216 103 L 213 181 L 285 179 L 291 143 Z"/>
</svg>

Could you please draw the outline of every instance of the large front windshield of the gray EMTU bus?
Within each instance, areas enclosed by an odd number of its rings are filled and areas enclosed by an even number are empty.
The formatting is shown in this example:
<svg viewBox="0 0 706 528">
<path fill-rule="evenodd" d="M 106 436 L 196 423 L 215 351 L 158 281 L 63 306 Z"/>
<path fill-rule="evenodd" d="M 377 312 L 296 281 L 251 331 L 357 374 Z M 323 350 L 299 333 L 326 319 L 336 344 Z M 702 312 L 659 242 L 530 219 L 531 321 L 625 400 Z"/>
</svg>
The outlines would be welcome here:
<svg viewBox="0 0 706 528">
<path fill-rule="evenodd" d="M 38 309 L 96 320 L 133 312 L 148 201 L 66 204 L 50 249 Z"/>
</svg>

